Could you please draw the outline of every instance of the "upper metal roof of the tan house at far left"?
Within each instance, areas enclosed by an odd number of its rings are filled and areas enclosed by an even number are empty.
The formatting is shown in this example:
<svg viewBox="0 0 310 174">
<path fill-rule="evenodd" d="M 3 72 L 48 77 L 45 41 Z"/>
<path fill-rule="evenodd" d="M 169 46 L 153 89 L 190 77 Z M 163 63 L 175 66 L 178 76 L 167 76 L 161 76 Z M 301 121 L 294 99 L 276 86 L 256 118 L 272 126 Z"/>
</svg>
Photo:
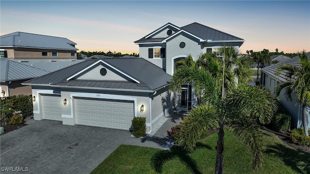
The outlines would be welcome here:
<svg viewBox="0 0 310 174">
<path fill-rule="evenodd" d="M 26 47 L 41 49 L 78 50 L 74 43 L 67 38 L 32 34 L 26 32 L 14 32 L 0 36 L 1 47 Z"/>
</svg>

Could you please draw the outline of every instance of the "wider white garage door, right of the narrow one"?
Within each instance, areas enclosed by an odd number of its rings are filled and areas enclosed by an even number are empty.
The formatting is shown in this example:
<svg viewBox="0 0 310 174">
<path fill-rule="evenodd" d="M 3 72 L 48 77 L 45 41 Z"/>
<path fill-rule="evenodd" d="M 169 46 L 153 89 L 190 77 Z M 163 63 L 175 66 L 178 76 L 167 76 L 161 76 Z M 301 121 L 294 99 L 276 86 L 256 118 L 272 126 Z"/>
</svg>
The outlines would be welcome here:
<svg viewBox="0 0 310 174">
<path fill-rule="evenodd" d="M 129 130 L 134 118 L 134 102 L 75 98 L 77 124 Z"/>
</svg>

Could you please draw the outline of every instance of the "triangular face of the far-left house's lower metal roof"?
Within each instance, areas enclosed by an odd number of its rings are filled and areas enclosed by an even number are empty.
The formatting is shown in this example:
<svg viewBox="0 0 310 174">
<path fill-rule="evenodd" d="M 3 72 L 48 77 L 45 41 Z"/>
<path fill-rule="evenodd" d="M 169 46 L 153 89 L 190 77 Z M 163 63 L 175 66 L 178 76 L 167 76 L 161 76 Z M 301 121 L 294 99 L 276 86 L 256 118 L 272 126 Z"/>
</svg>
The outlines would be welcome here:
<svg viewBox="0 0 310 174">
<path fill-rule="evenodd" d="M 78 60 L 75 58 L 25 58 L 13 59 L 12 61 L 20 62 L 24 65 L 51 73 L 84 60 Z"/>
</svg>

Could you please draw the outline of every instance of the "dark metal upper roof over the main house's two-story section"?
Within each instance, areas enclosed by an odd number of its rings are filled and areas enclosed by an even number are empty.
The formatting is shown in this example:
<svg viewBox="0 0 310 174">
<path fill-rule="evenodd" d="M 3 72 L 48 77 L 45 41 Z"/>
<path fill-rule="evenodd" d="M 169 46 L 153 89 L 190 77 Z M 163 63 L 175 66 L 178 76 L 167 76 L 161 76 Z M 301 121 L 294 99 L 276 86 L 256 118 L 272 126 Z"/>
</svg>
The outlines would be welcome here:
<svg viewBox="0 0 310 174">
<path fill-rule="evenodd" d="M 177 29 L 175 33 L 173 33 L 171 36 L 168 36 L 166 38 L 152 38 L 150 37 L 151 34 L 156 34 L 156 32 L 159 32 L 167 27 L 174 27 L 174 29 Z M 213 29 L 207 26 L 204 26 L 202 24 L 199 24 L 197 22 L 194 22 L 192 24 L 186 25 L 184 27 L 177 27 L 171 23 L 168 23 L 164 26 L 162 26 L 159 29 L 156 29 L 151 34 L 141 38 L 138 41 L 135 41 L 135 43 L 164 43 L 167 38 L 171 38 L 174 35 L 179 34 L 180 32 L 185 32 L 187 34 L 190 34 L 196 38 L 200 39 L 200 42 L 206 42 L 206 43 L 212 43 L 212 42 L 244 42 L 243 39 L 233 36 L 231 34 L 225 33 L 223 31 L 219 31 L 217 29 Z"/>
</svg>

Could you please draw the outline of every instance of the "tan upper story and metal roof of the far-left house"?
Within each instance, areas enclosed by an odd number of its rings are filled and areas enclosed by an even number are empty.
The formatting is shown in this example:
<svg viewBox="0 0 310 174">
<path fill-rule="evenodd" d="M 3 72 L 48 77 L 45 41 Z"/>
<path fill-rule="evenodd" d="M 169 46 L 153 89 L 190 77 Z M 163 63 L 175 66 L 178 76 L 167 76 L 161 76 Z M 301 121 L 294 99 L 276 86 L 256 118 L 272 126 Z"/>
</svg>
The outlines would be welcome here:
<svg viewBox="0 0 310 174">
<path fill-rule="evenodd" d="M 0 58 L 77 58 L 77 43 L 26 32 L 0 36 Z"/>
</svg>

